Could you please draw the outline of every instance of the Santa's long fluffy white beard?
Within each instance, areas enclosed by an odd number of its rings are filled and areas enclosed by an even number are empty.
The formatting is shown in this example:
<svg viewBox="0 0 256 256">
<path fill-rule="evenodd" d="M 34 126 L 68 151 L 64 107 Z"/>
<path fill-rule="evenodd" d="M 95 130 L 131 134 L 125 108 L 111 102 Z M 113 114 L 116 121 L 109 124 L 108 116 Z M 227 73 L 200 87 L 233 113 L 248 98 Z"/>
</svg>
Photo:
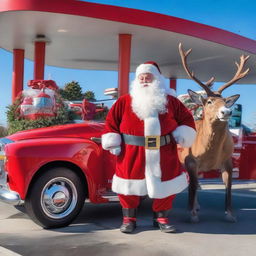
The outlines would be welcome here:
<svg viewBox="0 0 256 256">
<path fill-rule="evenodd" d="M 135 79 L 131 84 L 130 95 L 132 110 L 141 120 L 166 112 L 166 89 L 161 80 L 155 79 L 145 86 Z"/>
</svg>

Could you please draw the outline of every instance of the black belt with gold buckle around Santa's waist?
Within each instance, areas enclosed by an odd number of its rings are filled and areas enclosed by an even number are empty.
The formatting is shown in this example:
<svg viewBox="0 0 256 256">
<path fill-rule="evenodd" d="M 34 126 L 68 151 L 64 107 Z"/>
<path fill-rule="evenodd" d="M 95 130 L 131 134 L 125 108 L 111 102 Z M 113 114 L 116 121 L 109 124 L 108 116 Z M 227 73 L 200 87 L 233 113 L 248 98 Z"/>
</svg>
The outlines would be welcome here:
<svg viewBox="0 0 256 256">
<path fill-rule="evenodd" d="M 129 134 L 122 134 L 125 144 L 134 146 L 143 146 L 147 149 L 159 149 L 161 146 L 169 144 L 173 141 L 173 137 L 170 134 L 163 136 L 135 136 Z"/>
</svg>

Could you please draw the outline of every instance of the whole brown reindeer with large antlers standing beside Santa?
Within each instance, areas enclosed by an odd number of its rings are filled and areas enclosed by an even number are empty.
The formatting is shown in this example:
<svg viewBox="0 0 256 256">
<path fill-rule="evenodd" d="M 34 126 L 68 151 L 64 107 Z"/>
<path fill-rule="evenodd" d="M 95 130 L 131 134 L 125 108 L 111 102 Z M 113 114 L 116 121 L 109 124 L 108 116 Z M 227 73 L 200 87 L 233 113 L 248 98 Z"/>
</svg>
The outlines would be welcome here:
<svg viewBox="0 0 256 256">
<path fill-rule="evenodd" d="M 222 180 L 225 185 L 225 218 L 229 222 L 235 222 L 236 218 L 232 215 L 231 203 L 231 186 L 232 186 L 232 153 L 234 149 L 233 139 L 228 129 L 228 120 L 232 114 L 230 107 L 237 101 L 239 94 L 223 98 L 221 93 L 247 75 L 249 68 L 243 71 L 244 64 L 249 56 L 242 55 L 240 63 L 236 62 L 237 72 L 234 77 L 217 91 L 211 89 L 214 77 L 210 78 L 206 83 L 201 82 L 195 77 L 187 65 L 187 56 L 192 49 L 184 51 L 181 43 L 179 44 L 179 52 L 183 67 L 188 76 L 198 83 L 206 92 L 207 97 L 204 98 L 200 94 L 192 90 L 188 90 L 188 94 L 192 101 L 203 107 L 203 119 L 195 121 L 196 139 L 191 148 L 183 148 L 179 150 L 179 158 L 181 163 L 185 165 L 189 173 L 189 208 L 191 210 L 191 221 L 198 222 L 198 212 L 200 206 L 197 201 L 198 188 L 198 171 L 207 172 L 214 169 L 220 169 Z"/>
</svg>

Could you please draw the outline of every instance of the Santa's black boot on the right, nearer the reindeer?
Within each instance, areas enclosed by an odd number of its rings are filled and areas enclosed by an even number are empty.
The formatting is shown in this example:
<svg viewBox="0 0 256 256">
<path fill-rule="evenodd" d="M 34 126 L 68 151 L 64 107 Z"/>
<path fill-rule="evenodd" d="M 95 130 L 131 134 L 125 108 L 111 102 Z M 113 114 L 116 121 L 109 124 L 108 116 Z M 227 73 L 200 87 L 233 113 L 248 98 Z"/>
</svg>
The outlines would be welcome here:
<svg viewBox="0 0 256 256">
<path fill-rule="evenodd" d="M 169 211 L 154 212 L 153 226 L 165 233 L 176 233 L 176 228 L 169 224 Z"/>
</svg>

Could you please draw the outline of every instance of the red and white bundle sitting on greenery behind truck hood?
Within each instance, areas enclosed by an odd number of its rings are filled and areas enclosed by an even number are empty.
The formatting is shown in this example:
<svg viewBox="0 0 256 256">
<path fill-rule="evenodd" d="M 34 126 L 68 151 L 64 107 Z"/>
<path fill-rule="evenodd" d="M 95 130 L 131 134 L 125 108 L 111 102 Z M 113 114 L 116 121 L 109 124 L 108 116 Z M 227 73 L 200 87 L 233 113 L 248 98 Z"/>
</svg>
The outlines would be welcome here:
<svg viewBox="0 0 256 256">
<path fill-rule="evenodd" d="M 56 83 L 53 80 L 30 80 L 28 86 L 30 88 L 22 93 L 21 116 L 31 120 L 55 116 Z"/>
</svg>

